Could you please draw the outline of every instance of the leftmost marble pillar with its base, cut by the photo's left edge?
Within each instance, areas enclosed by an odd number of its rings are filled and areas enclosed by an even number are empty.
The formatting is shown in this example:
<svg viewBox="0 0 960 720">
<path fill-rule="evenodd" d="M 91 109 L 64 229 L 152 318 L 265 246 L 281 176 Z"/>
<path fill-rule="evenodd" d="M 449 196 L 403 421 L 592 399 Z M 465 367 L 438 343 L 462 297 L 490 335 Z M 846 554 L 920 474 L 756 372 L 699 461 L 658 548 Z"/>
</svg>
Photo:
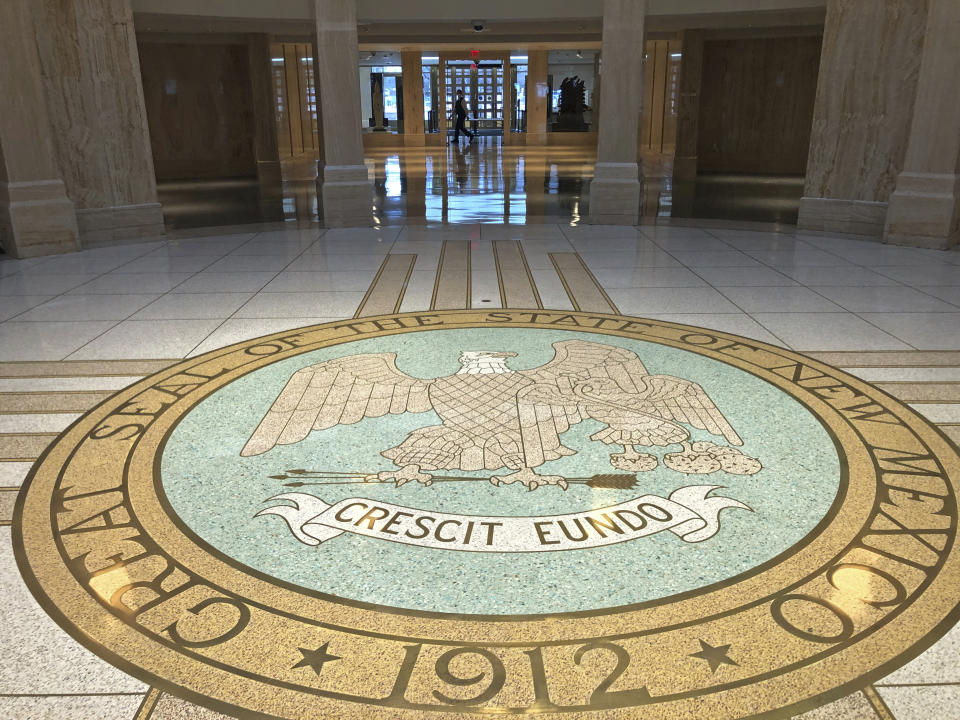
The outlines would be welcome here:
<svg viewBox="0 0 960 720">
<path fill-rule="evenodd" d="M 77 217 L 54 152 L 33 0 L 0 2 L 0 246 L 26 258 L 78 248 Z"/>
</svg>

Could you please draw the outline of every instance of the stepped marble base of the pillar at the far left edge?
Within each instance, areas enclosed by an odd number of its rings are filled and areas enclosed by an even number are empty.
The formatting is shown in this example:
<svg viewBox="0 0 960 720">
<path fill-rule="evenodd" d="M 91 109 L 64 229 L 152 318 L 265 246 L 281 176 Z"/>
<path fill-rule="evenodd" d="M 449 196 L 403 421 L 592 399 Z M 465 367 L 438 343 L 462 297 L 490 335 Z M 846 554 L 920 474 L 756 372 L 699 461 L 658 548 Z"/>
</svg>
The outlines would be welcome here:
<svg viewBox="0 0 960 720">
<path fill-rule="evenodd" d="M 15 258 L 80 249 L 73 203 L 61 180 L 0 182 L 0 245 Z"/>
</svg>

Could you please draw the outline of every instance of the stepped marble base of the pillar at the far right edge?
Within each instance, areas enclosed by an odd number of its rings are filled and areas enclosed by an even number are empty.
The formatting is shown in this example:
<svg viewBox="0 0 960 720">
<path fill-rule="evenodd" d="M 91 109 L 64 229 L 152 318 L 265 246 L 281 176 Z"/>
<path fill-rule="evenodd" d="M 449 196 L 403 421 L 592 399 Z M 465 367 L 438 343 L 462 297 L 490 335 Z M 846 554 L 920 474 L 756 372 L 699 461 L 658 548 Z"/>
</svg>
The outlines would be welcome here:
<svg viewBox="0 0 960 720">
<path fill-rule="evenodd" d="M 900 173 L 883 241 L 936 250 L 960 243 L 960 175 Z"/>
</svg>

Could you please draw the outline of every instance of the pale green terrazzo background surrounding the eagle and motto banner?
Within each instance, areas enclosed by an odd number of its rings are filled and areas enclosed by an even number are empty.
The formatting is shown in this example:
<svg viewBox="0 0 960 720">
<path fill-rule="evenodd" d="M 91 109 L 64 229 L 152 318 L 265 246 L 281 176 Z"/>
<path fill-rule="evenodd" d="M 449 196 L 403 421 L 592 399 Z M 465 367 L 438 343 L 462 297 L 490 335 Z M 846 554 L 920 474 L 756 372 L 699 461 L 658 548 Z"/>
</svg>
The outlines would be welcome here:
<svg viewBox="0 0 960 720">
<path fill-rule="evenodd" d="M 298 369 L 359 353 L 397 353 L 397 367 L 418 378 L 460 369 L 464 350 L 512 351 L 513 370 L 553 359 L 551 343 L 580 339 L 636 352 L 651 374 L 699 383 L 743 438 L 739 448 L 759 459 L 755 475 L 723 471 L 685 475 L 658 467 L 637 475 L 633 489 L 571 484 L 528 492 L 488 482 L 416 482 L 306 486 L 326 503 L 361 497 L 425 512 L 480 516 L 543 516 L 606 507 L 641 495 L 668 497 L 688 485 L 722 485 L 718 493 L 753 512 L 724 510 L 713 537 L 688 543 L 662 532 L 605 547 L 563 552 L 455 552 L 384 542 L 345 533 L 318 547 L 299 542 L 277 516 L 254 515 L 268 498 L 291 492 L 271 479 L 291 468 L 377 472 L 391 469 L 382 450 L 413 430 L 434 425 L 433 412 L 368 418 L 314 432 L 293 445 L 254 457 L 240 450 Z M 610 465 L 619 445 L 589 439 L 603 425 L 586 420 L 561 436 L 576 455 L 547 462 L 540 474 L 589 477 L 619 472 Z M 726 445 L 701 430 L 694 441 Z M 662 458 L 670 448 L 640 448 Z M 484 476 L 497 471 L 437 471 Z M 764 563 L 803 539 L 824 517 L 839 486 L 840 461 L 817 418 L 776 387 L 737 368 L 654 343 L 590 333 L 541 329 L 435 330 L 363 340 L 300 355 L 251 373 L 195 407 L 170 437 L 162 459 L 163 491 L 199 537 L 255 570 L 344 599 L 421 611 L 539 614 L 588 611 L 653 601 L 721 582 Z"/>
</svg>

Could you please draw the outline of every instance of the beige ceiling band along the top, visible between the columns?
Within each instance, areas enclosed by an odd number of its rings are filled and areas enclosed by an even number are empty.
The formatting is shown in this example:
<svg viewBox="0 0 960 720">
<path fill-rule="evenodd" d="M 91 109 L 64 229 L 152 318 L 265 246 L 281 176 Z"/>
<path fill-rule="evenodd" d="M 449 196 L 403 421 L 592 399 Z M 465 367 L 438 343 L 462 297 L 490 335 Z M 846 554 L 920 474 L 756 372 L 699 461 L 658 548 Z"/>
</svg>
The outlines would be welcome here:
<svg viewBox="0 0 960 720">
<path fill-rule="evenodd" d="M 2 1 L 2 0 L 0 0 Z M 313 34 L 317 0 L 132 0 L 142 33 Z M 599 47 L 602 0 L 356 0 L 363 49 Z M 646 31 L 823 25 L 826 0 L 649 0 Z M 482 24 L 484 31 L 474 32 Z"/>
</svg>

